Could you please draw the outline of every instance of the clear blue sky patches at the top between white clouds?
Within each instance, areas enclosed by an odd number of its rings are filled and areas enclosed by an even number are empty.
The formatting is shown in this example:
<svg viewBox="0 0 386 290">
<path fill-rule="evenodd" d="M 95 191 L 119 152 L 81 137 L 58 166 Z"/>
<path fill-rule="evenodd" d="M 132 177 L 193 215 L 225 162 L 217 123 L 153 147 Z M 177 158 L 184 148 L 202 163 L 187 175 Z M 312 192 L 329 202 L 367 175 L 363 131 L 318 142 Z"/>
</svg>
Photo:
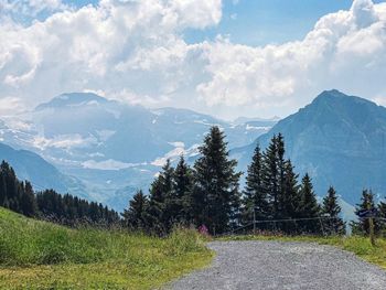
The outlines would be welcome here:
<svg viewBox="0 0 386 290">
<path fill-rule="evenodd" d="M 81 8 L 97 4 L 97 0 L 65 0 Z M 349 10 L 352 0 L 225 0 L 218 25 L 184 32 L 189 43 L 228 35 L 234 43 L 246 45 L 280 44 L 301 40 L 323 15 Z M 384 0 L 374 0 L 374 3 Z"/>
</svg>

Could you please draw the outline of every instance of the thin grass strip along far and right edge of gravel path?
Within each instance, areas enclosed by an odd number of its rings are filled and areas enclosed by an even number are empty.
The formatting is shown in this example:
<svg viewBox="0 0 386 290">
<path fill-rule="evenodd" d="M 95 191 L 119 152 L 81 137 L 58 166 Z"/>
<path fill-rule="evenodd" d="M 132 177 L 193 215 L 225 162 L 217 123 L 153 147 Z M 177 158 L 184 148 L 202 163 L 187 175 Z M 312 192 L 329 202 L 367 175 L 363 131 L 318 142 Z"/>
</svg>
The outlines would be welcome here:
<svg viewBox="0 0 386 290">
<path fill-rule="evenodd" d="M 280 241 L 308 241 L 321 245 L 335 246 L 341 249 L 352 251 L 362 259 L 376 264 L 386 269 L 386 239 L 377 238 L 376 246 L 373 247 L 368 237 L 362 236 L 275 236 L 275 235 L 244 235 L 226 236 L 216 240 L 280 240 Z"/>
</svg>

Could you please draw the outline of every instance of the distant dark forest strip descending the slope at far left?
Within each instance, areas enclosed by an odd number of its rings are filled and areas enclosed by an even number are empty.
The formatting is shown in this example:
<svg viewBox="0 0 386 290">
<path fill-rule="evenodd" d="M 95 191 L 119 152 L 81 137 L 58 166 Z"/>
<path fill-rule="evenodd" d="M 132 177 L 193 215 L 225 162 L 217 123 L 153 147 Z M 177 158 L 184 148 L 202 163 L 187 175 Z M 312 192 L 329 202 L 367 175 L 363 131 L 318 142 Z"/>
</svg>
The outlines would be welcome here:
<svg viewBox="0 0 386 290">
<path fill-rule="evenodd" d="M 2 161 L 0 165 L 0 206 L 29 217 L 49 219 L 63 225 L 112 225 L 119 214 L 100 203 L 88 202 L 54 190 L 34 192 L 29 181 L 19 181 L 14 170 Z"/>
</svg>

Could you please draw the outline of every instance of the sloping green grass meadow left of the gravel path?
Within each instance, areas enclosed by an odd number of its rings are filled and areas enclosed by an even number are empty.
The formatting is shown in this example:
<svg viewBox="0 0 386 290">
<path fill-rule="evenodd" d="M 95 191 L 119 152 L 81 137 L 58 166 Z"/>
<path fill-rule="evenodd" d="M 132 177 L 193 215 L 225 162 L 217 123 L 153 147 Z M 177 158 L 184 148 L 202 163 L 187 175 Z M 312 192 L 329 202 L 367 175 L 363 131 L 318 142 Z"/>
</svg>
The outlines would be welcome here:
<svg viewBox="0 0 386 290">
<path fill-rule="evenodd" d="M 193 230 L 69 229 L 0 208 L 0 289 L 154 289 L 212 257 Z"/>
</svg>

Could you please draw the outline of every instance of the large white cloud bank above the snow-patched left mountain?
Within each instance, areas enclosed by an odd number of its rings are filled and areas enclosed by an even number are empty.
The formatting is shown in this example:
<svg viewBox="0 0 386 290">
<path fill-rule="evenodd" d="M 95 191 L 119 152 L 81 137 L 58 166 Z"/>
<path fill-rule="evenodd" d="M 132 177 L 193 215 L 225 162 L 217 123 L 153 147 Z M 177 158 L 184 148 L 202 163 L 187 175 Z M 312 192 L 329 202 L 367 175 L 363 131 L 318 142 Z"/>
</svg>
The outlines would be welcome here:
<svg viewBox="0 0 386 290">
<path fill-rule="evenodd" d="M 217 24 L 221 7 L 221 0 L 103 0 L 28 26 L 0 22 L 0 92 L 33 105 L 85 89 L 132 92 L 132 96 L 168 100 L 191 82 L 200 57 L 182 31 Z"/>
</svg>

